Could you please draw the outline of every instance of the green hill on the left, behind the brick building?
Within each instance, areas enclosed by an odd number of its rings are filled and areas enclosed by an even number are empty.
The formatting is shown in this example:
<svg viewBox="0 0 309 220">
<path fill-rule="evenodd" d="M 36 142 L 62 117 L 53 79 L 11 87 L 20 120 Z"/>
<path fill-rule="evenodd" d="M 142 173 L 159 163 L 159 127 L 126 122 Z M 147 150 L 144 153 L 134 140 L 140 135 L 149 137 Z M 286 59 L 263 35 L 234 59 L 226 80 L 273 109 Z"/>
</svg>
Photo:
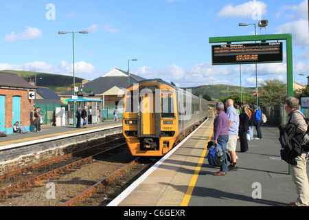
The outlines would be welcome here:
<svg viewBox="0 0 309 220">
<path fill-rule="evenodd" d="M 71 85 L 73 85 L 73 76 L 62 76 L 58 74 L 45 74 L 19 70 L 3 70 L 3 72 L 18 74 L 27 82 L 30 82 L 30 80 L 34 82 L 36 75 L 36 86 L 49 87 L 49 89 L 54 91 L 67 91 L 67 87 L 71 87 Z M 75 77 L 76 84 L 82 83 L 82 80 L 82 78 Z"/>
</svg>

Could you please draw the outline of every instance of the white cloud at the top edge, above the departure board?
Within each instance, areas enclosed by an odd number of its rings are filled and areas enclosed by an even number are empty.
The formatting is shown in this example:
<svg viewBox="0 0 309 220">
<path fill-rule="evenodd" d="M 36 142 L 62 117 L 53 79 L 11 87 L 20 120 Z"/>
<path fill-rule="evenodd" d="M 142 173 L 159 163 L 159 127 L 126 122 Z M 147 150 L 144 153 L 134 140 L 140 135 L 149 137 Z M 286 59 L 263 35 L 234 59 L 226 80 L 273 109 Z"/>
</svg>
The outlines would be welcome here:
<svg viewBox="0 0 309 220">
<path fill-rule="evenodd" d="M 218 17 L 251 17 L 253 20 L 262 19 L 262 15 L 266 14 L 266 5 L 262 1 L 249 1 L 240 5 L 226 5 L 217 14 Z"/>
</svg>

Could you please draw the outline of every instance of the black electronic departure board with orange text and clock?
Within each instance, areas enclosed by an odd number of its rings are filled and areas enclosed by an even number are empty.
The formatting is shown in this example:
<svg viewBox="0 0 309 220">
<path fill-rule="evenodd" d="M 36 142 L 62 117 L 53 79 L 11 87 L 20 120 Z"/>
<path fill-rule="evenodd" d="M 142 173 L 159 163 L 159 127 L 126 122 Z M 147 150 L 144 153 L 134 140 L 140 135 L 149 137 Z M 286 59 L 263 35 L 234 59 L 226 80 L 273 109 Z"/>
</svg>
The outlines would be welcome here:
<svg viewBox="0 0 309 220">
<path fill-rule="evenodd" d="M 279 63 L 282 61 L 282 42 L 212 46 L 212 65 Z"/>
</svg>

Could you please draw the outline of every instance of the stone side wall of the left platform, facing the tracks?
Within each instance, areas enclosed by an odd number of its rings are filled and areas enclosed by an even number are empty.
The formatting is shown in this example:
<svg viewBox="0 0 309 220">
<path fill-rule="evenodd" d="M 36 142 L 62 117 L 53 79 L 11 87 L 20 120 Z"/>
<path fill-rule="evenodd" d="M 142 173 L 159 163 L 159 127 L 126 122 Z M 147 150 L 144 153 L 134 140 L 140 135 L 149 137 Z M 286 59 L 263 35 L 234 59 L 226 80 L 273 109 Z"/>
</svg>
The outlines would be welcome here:
<svg viewBox="0 0 309 220">
<path fill-rule="evenodd" d="M 54 159 L 69 153 L 75 153 L 96 144 L 100 144 L 111 135 L 122 135 L 122 127 L 72 135 L 71 137 L 58 138 L 57 140 L 29 144 L 18 148 L 0 151 L 0 175 L 14 170 L 26 168 Z"/>
</svg>

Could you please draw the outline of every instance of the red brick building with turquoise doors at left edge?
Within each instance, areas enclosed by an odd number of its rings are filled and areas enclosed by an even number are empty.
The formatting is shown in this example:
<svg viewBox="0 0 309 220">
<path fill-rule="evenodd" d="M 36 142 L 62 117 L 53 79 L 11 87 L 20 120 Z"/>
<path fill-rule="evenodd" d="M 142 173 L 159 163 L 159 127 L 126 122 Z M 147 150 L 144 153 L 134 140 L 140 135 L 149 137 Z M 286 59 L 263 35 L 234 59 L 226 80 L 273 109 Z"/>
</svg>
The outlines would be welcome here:
<svg viewBox="0 0 309 220">
<path fill-rule="evenodd" d="M 36 91 L 36 87 L 17 74 L 0 72 L 0 131 L 13 133 L 16 121 L 33 131 L 30 112 L 34 111 L 34 102 L 28 97 L 30 91 Z"/>
</svg>

